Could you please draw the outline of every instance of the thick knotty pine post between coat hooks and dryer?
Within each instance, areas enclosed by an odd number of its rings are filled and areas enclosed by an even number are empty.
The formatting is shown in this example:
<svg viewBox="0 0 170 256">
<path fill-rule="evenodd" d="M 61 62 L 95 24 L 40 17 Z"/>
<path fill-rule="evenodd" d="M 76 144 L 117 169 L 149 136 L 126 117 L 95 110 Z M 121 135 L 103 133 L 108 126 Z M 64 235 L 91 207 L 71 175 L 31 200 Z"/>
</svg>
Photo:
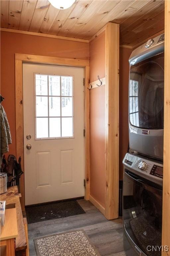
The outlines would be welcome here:
<svg viewBox="0 0 170 256">
<path fill-rule="evenodd" d="M 119 217 L 119 24 L 106 25 L 105 217 Z"/>
</svg>

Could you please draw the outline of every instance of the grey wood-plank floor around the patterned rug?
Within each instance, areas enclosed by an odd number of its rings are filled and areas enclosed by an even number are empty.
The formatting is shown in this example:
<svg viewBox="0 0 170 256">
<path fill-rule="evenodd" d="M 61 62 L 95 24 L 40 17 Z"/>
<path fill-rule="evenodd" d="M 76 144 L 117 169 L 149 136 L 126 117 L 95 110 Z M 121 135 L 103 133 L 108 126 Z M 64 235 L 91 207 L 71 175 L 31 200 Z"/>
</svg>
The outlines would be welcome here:
<svg viewBox="0 0 170 256">
<path fill-rule="evenodd" d="M 28 225 L 30 256 L 36 256 L 35 238 L 77 229 L 85 230 L 101 256 L 131 256 L 123 248 L 122 219 L 109 221 L 89 201 L 81 199 L 78 203 L 85 214 Z"/>
</svg>

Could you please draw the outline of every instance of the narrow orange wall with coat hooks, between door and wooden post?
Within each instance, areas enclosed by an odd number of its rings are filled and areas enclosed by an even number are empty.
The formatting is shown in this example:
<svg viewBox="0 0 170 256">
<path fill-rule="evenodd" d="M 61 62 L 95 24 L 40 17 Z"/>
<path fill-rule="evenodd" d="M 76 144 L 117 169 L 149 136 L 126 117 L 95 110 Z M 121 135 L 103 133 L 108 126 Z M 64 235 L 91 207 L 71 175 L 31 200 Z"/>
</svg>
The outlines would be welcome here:
<svg viewBox="0 0 170 256">
<path fill-rule="evenodd" d="M 105 77 L 105 32 L 90 42 L 90 81 Z M 105 206 L 105 86 L 90 90 L 90 195 Z"/>
</svg>

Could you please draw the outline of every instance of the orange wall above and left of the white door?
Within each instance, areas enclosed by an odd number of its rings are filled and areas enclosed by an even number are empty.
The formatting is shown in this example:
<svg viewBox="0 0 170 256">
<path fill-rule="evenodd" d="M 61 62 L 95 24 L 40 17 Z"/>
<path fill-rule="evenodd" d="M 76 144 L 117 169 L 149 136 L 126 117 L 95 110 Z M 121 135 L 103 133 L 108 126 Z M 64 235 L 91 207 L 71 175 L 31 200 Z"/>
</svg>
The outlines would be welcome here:
<svg viewBox="0 0 170 256">
<path fill-rule="evenodd" d="M 1 94 L 10 125 L 10 154 L 16 155 L 15 134 L 15 53 L 89 59 L 89 44 L 1 31 Z"/>
</svg>

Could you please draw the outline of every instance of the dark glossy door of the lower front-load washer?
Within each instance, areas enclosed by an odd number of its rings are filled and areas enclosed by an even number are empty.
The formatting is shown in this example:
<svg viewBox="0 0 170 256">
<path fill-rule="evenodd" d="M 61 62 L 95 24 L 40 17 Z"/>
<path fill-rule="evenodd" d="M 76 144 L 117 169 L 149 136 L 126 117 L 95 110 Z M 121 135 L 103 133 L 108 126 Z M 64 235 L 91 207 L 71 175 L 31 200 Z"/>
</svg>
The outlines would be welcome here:
<svg viewBox="0 0 170 256">
<path fill-rule="evenodd" d="M 144 255 L 161 256 L 162 187 L 125 170 L 123 220 L 134 246 Z"/>
</svg>

